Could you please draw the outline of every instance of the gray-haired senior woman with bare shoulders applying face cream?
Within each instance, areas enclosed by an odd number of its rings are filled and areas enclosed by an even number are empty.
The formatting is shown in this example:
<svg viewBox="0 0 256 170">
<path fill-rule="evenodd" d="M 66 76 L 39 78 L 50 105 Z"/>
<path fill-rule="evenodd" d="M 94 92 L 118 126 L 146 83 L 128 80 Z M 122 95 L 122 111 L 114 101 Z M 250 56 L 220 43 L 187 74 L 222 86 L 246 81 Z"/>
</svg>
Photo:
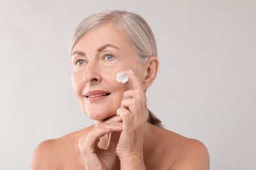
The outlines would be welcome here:
<svg viewBox="0 0 256 170">
<path fill-rule="evenodd" d="M 164 129 L 148 110 L 159 61 L 141 16 L 111 10 L 85 18 L 70 55 L 75 95 L 95 124 L 39 144 L 31 169 L 209 169 L 200 141 Z M 121 71 L 127 82 L 116 81 Z"/>
</svg>

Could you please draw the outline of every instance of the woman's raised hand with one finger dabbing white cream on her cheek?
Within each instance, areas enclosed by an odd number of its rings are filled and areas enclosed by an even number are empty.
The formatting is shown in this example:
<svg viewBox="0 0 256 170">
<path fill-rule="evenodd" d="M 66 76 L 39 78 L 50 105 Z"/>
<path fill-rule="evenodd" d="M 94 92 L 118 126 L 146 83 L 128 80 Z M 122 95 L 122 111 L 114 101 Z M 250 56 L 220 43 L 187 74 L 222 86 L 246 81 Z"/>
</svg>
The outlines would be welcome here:
<svg viewBox="0 0 256 170">
<path fill-rule="evenodd" d="M 134 89 L 123 93 L 121 107 L 117 109 L 117 116 L 123 120 L 123 131 L 116 148 L 121 165 L 130 158 L 131 161 L 139 158 L 143 162 L 144 128 L 148 119 L 146 95 L 139 77 L 129 71 L 129 78 Z"/>
</svg>

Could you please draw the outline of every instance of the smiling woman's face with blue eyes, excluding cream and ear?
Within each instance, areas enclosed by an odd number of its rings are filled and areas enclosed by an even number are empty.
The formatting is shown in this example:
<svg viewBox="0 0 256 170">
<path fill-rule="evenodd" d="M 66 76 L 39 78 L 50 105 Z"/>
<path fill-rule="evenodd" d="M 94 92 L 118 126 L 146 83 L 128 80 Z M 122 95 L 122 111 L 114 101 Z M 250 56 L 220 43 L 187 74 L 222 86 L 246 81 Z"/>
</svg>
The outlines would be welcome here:
<svg viewBox="0 0 256 170">
<path fill-rule="evenodd" d="M 142 81 L 144 66 L 123 33 L 112 25 L 89 31 L 72 51 L 72 86 L 81 109 L 93 120 L 116 115 L 123 92 L 132 89 L 131 81 L 116 81 L 120 71 L 131 69 Z"/>
</svg>

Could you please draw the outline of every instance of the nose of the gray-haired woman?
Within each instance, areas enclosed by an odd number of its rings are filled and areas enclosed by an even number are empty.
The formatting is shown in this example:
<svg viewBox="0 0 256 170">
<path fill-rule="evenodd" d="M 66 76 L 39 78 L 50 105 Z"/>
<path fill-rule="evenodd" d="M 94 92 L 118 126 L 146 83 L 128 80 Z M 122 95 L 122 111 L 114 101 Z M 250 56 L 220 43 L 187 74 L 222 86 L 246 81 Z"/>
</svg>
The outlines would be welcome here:
<svg viewBox="0 0 256 170">
<path fill-rule="evenodd" d="M 96 64 L 88 63 L 87 69 L 83 75 L 83 80 L 87 83 L 101 81 L 101 76 L 98 68 L 96 67 Z"/>
</svg>

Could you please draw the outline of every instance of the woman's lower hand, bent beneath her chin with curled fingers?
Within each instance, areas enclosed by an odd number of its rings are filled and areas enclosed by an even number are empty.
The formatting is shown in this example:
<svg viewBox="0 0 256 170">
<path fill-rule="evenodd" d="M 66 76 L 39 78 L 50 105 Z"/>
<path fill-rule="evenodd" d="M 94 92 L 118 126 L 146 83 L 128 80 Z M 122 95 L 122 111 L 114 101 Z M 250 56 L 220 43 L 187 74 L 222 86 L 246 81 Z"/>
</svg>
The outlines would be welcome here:
<svg viewBox="0 0 256 170">
<path fill-rule="evenodd" d="M 113 116 L 104 122 L 99 122 L 87 134 L 79 138 L 78 146 L 85 169 L 113 169 L 116 162 L 116 146 L 123 129 L 121 118 Z M 99 148 L 100 138 L 110 134 L 105 149 Z"/>
</svg>

